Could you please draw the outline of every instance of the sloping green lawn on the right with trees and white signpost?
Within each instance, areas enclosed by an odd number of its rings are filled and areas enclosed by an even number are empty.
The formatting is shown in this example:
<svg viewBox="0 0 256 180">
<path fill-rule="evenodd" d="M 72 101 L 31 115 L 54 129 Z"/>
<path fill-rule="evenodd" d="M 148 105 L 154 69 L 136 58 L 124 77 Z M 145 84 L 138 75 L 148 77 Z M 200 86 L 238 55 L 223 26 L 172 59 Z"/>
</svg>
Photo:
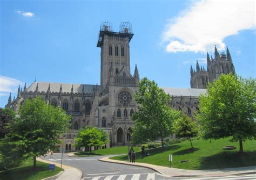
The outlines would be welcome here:
<svg viewBox="0 0 256 180">
<path fill-rule="evenodd" d="M 221 148 L 223 146 L 236 146 L 237 149 L 224 151 Z M 245 153 L 240 155 L 239 142 L 230 142 L 228 139 L 212 140 L 212 142 L 195 140 L 194 149 L 190 149 L 190 141 L 184 141 L 164 148 L 146 150 L 150 153 L 147 157 L 142 157 L 139 152 L 136 154 L 136 162 L 170 167 L 169 154 L 172 154 L 172 167 L 180 169 L 218 169 L 256 165 L 256 140 L 247 140 L 243 142 L 243 146 Z M 115 156 L 111 159 L 127 161 L 127 156 Z M 189 160 L 189 162 L 181 163 L 181 160 Z"/>
</svg>

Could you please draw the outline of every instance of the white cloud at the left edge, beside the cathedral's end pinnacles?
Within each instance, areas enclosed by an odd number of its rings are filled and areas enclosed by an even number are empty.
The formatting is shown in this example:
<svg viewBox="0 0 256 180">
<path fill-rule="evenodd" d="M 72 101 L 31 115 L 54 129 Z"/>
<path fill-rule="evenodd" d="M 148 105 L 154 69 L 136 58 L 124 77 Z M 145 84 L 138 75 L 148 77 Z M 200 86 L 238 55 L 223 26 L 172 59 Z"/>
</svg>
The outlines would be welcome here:
<svg viewBox="0 0 256 180">
<path fill-rule="evenodd" d="M 9 96 L 10 92 L 17 92 L 19 84 L 24 83 L 11 77 L 0 76 L 0 96 Z"/>
</svg>

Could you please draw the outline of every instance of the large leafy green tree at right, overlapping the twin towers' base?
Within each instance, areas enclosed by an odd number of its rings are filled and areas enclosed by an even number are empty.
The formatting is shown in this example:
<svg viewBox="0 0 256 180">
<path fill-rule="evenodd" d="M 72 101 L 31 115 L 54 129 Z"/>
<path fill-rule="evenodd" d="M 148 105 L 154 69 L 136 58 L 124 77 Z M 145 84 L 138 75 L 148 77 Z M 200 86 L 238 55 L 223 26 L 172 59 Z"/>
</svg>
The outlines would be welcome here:
<svg viewBox="0 0 256 180">
<path fill-rule="evenodd" d="M 256 138 L 255 79 L 244 79 L 232 74 L 221 75 L 207 87 L 207 95 L 199 97 L 197 113 L 204 139 L 232 136 L 239 141 Z"/>
</svg>

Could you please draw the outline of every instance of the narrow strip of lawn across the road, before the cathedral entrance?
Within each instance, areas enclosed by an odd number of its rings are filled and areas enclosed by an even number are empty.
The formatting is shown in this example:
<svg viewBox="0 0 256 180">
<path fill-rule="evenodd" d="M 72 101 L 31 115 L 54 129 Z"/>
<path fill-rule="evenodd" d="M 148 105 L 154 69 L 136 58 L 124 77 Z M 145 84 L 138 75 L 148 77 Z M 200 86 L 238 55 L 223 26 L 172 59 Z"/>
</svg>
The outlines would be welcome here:
<svg viewBox="0 0 256 180">
<path fill-rule="evenodd" d="M 140 147 L 133 147 L 133 148 L 135 152 L 140 151 Z M 122 147 L 93 150 L 92 154 L 90 154 L 90 151 L 75 153 L 75 155 L 77 156 L 100 156 L 100 155 L 112 155 L 112 154 L 128 154 L 128 147 L 122 146 Z"/>
</svg>

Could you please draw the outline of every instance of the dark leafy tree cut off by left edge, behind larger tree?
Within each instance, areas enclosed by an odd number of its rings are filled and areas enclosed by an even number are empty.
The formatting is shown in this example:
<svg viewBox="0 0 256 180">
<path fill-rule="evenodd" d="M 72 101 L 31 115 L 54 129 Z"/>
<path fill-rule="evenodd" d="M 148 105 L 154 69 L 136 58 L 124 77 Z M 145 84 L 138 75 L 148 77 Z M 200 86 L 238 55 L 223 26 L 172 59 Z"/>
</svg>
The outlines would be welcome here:
<svg viewBox="0 0 256 180">
<path fill-rule="evenodd" d="M 15 118 L 15 113 L 9 108 L 0 108 L 0 139 L 10 132 L 11 121 Z"/>
</svg>

